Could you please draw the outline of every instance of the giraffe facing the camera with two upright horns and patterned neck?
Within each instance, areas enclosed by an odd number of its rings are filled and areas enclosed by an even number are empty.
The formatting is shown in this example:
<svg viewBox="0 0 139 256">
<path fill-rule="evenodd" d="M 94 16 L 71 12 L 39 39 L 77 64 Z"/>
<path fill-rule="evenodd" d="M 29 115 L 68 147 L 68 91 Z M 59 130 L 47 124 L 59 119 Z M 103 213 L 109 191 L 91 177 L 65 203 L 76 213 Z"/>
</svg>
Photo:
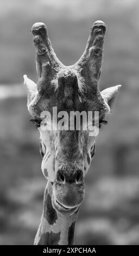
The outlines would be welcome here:
<svg viewBox="0 0 139 256">
<path fill-rule="evenodd" d="M 42 130 L 45 111 L 98 111 L 99 128 L 113 106 L 121 85 L 99 91 L 106 25 L 91 27 L 85 51 L 77 63 L 65 66 L 56 57 L 44 23 L 31 27 L 36 50 L 37 83 L 24 75 L 31 122 L 40 131 L 41 169 L 47 179 L 43 212 L 34 245 L 73 245 L 74 229 L 84 200 L 84 176 L 95 153 L 96 136 L 80 130 Z M 55 123 L 53 119 L 52 123 Z"/>
</svg>

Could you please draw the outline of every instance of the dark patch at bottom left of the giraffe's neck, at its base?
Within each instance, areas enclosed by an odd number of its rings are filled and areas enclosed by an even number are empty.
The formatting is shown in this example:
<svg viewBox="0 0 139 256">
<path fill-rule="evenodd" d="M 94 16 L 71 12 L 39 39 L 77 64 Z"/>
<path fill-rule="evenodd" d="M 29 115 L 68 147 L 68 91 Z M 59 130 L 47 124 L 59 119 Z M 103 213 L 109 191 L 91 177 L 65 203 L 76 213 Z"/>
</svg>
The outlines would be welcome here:
<svg viewBox="0 0 139 256">
<path fill-rule="evenodd" d="M 60 234 L 60 231 L 58 233 L 53 233 L 51 231 L 50 233 L 47 232 L 45 234 L 42 234 L 37 245 L 58 245 L 60 241 Z"/>
</svg>

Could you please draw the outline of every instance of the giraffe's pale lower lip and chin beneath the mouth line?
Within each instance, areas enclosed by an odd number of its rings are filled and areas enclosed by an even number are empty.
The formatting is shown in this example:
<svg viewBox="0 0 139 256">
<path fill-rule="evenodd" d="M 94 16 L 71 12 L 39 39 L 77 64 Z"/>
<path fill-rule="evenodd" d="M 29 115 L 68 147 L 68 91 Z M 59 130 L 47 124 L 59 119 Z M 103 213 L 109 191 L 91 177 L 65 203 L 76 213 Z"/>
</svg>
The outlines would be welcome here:
<svg viewBox="0 0 139 256">
<path fill-rule="evenodd" d="M 55 199 L 54 195 L 52 196 L 52 205 L 57 212 L 63 215 L 72 215 L 76 211 L 78 211 L 78 208 L 79 208 L 79 205 L 74 207 L 71 207 L 71 206 L 67 207 L 65 205 L 60 204 L 58 200 Z"/>
</svg>

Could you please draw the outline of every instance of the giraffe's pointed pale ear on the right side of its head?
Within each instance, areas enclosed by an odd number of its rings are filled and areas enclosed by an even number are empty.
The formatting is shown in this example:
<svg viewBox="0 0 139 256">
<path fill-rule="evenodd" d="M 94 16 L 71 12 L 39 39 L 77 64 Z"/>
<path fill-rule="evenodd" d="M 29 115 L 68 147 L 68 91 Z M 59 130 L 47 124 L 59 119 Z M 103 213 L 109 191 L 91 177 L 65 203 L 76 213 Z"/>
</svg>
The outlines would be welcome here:
<svg viewBox="0 0 139 256">
<path fill-rule="evenodd" d="M 101 92 L 102 96 L 104 97 L 105 101 L 108 103 L 110 107 L 110 113 L 113 112 L 113 108 L 115 106 L 115 102 L 117 99 L 117 95 L 119 93 L 119 89 L 121 85 L 109 87 Z"/>
</svg>

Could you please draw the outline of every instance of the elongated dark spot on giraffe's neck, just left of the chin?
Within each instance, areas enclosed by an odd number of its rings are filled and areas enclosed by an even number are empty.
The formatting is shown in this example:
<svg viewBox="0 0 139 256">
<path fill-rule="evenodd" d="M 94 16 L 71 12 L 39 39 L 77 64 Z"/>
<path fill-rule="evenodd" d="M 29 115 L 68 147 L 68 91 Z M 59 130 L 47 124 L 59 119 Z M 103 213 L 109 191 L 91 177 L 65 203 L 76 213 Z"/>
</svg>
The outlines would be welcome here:
<svg viewBox="0 0 139 256">
<path fill-rule="evenodd" d="M 44 216 L 45 216 L 46 220 L 48 221 L 48 223 L 50 225 L 53 225 L 56 222 L 56 220 L 58 219 L 58 216 L 52 206 L 52 199 L 49 194 L 47 194 L 44 209 L 45 209 Z"/>
</svg>

